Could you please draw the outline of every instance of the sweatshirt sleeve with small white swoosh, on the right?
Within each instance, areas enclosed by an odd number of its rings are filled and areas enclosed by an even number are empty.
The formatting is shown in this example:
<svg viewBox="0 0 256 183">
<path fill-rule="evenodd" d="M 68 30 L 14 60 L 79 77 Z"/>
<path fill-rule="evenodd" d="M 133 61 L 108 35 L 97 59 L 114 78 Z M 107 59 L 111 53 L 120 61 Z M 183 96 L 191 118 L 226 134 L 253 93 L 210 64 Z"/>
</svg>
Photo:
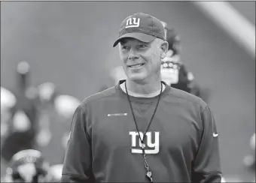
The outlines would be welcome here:
<svg viewBox="0 0 256 183">
<path fill-rule="evenodd" d="M 192 182 L 221 182 L 218 132 L 209 107 L 201 113 L 203 133 L 193 162 Z"/>
</svg>

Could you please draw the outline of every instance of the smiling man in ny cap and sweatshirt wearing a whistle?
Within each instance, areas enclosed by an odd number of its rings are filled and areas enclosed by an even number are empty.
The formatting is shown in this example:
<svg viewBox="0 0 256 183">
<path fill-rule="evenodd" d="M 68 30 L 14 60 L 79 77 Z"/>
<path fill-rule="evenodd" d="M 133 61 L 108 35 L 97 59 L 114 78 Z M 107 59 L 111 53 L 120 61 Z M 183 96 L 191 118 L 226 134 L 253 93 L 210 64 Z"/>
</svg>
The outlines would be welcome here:
<svg viewBox="0 0 256 183">
<path fill-rule="evenodd" d="M 75 110 L 63 182 L 221 182 L 212 112 L 161 82 L 168 43 L 160 20 L 135 13 L 121 23 L 127 79 Z"/>
</svg>

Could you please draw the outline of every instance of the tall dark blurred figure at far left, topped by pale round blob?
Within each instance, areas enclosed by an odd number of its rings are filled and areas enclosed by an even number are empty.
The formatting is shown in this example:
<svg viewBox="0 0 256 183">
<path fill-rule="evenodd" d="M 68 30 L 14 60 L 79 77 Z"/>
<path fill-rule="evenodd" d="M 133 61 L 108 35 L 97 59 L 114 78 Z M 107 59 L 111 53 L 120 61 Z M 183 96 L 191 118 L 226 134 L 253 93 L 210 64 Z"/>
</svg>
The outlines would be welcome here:
<svg viewBox="0 0 256 183">
<path fill-rule="evenodd" d="M 14 89 L 15 104 L 10 108 L 8 133 L 2 143 L 2 158 L 7 162 L 18 151 L 35 148 L 38 111 L 36 109 L 37 91 L 30 86 L 28 62 L 17 65 L 17 88 Z"/>
</svg>

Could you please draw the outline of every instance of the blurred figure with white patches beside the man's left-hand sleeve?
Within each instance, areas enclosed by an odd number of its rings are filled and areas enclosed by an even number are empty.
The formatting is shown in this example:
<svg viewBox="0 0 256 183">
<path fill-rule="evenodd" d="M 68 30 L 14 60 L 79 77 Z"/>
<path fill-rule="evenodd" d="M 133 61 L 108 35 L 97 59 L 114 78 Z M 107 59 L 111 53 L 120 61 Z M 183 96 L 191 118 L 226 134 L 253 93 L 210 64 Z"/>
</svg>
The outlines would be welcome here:
<svg viewBox="0 0 256 183">
<path fill-rule="evenodd" d="M 38 149 L 50 164 L 62 163 L 72 115 L 81 104 L 71 95 L 61 95 L 53 83 L 42 83 L 38 86 L 40 100 L 39 133 L 36 137 Z"/>
</svg>

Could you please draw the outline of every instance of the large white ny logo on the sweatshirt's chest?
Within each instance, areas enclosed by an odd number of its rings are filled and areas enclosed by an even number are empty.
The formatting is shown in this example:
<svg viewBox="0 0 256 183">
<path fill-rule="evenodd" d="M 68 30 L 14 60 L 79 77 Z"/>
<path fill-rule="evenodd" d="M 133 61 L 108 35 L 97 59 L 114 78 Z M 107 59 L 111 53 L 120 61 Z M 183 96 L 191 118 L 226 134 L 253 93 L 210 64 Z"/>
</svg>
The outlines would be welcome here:
<svg viewBox="0 0 256 183">
<path fill-rule="evenodd" d="M 132 153 L 142 154 L 142 142 L 139 135 L 143 139 L 142 132 L 130 131 L 131 136 L 131 151 Z M 139 142 L 139 143 L 138 143 Z M 145 136 L 145 154 L 157 154 L 159 152 L 159 132 L 148 131 Z"/>
</svg>

